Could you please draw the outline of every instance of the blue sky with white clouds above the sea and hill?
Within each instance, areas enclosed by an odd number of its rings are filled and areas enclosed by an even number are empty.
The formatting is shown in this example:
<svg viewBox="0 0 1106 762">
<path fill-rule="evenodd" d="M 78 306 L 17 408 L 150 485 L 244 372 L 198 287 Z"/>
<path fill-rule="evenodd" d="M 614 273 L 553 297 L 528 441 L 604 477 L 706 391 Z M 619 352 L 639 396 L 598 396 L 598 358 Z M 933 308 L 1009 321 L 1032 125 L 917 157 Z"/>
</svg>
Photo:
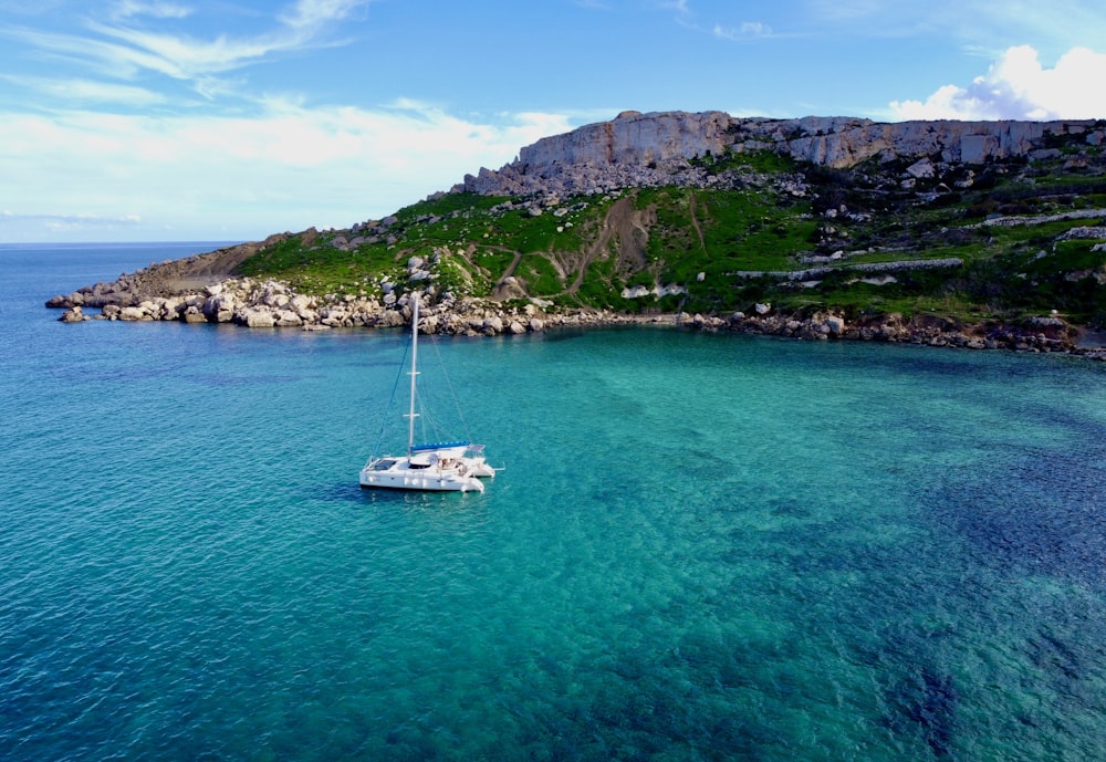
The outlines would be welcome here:
<svg viewBox="0 0 1106 762">
<path fill-rule="evenodd" d="M 0 0 L 0 242 L 348 227 L 625 109 L 1106 117 L 1106 6 Z"/>
</svg>

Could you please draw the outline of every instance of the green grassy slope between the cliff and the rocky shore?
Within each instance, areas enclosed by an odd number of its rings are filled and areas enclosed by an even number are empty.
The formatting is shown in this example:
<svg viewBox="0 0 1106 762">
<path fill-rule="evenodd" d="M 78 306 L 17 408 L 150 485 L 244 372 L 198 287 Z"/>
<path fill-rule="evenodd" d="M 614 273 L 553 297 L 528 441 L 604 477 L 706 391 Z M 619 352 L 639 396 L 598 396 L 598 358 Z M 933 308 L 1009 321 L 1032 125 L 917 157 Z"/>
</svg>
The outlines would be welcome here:
<svg viewBox="0 0 1106 762">
<path fill-rule="evenodd" d="M 529 296 L 562 306 L 727 314 L 772 302 L 836 307 L 849 316 L 936 313 L 966 322 L 1057 310 L 1102 326 L 1106 252 L 1094 248 L 1103 241 L 1061 240 L 1102 218 L 1039 218 L 1106 209 L 1103 156 L 1093 150 L 1089 161 L 1072 165 L 1070 149 L 1062 148 L 1060 157 L 991 164 L 971 174 L 961 168 L 909 189 L 900 184 L 905 166 L 830 170 L 764 154 L 697 159 L 711 173 L 738 173 L 744 178 L 738 189 L 639 188 L 617 198 L 570 199 L 538 216 L 520 199 L 446 195 L 399 210 L 386 230 L 291 236 L 240 270 L 309 293 L 373 295 L 382 280 L 405 276 L 409 258 L 421 257 L 435 261 L 439 291 L 490 296 L 511 275 Z M 780 178 L 799 175 L 805 194 L 781 188 Z M 995 215 L 1015 223 L 981 225 Z M 336 248 L 342 238 L 353 246 Z M 814 267 L 810 257 L 836 251 L 846 254 L 833 263 L 839 271 L 814 288 L 748 275 L 803 270 Z M 881 285 L 841 269 L 945 258 L 964 264 L 894 271 L 894 282 Z M 687 293 L 622 296 L 626 286 L 656 284 L 679 284 Z"/>
</svg>

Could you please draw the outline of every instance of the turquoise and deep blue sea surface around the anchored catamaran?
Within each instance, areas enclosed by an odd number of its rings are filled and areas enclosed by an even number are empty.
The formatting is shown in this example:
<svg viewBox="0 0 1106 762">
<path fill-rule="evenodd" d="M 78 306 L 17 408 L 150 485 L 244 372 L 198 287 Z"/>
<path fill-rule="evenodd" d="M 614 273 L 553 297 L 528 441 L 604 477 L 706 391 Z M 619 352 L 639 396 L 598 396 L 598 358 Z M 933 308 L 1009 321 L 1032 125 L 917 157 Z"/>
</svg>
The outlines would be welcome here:
<svg viewBox="0 0 1106 762">
<path fill-rule="evenodd" d="M 0 247 L 6 762 L 1100 759 L 1106 364 L 427 340 L 504 470 L 373 492 L 404 332 L 42 306 L 215 246 Z"/>
</svg>

